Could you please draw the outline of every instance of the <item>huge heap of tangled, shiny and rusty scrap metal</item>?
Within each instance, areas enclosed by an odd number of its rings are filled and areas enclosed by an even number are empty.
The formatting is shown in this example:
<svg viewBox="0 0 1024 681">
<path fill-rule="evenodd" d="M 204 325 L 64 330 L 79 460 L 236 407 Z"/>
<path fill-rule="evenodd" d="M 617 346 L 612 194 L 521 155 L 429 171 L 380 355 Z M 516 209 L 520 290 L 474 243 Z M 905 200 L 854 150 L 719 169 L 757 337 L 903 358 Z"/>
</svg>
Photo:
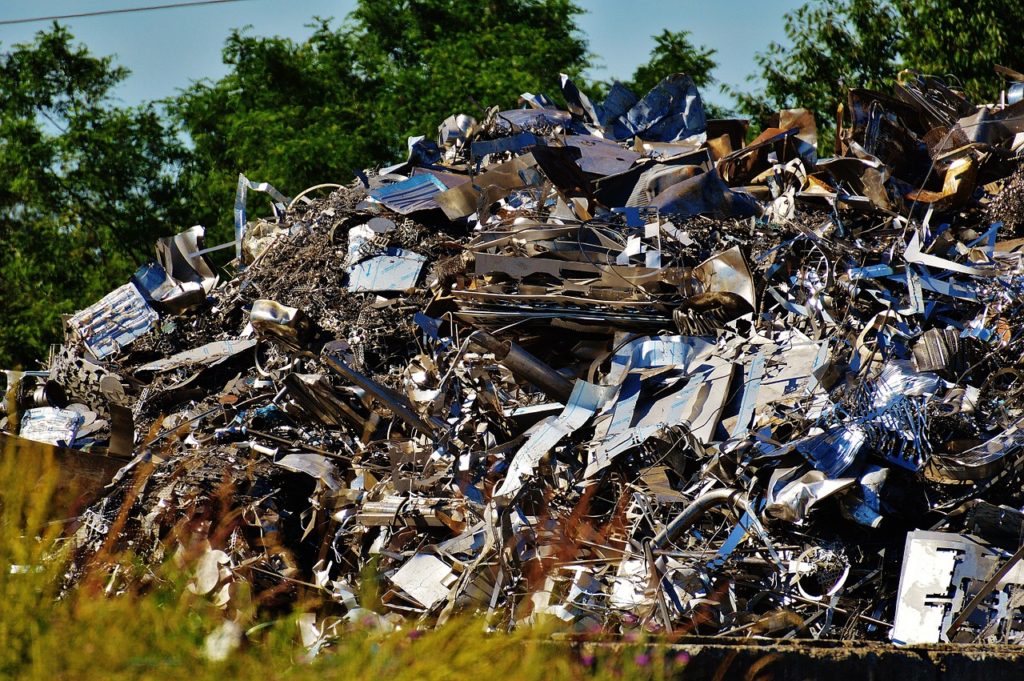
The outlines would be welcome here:
<svg viewBox="0 0 1024 681">
<path fill-rule="evenodd" d="M 197 593 L 319 594 L 310 641 L 1024 642 L 1024 102 L 904 73 L 819 159 L 683 75 L 561 90 L 348 185 L 242 177 L 231 279 L 193 227 L 68 320 L 4 427 L 126 457 L 69 582 L 202 540 Z"/>
</svg>

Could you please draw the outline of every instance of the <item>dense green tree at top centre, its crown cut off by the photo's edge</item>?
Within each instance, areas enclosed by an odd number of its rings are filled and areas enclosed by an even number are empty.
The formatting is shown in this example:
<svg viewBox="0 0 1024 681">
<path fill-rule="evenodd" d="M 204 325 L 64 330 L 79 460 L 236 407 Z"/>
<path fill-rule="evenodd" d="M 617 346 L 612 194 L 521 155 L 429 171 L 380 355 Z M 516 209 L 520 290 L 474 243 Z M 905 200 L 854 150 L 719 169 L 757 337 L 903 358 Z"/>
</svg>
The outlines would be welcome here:
<svg viewBox="0 0 1024 681">
<path fill-rule="evenodd" d="M 522 92 L 556 91 L 559 73 L 582 73 L 581 13 L 569 0 L 361 0 L 349 22 L 400 146 L 451 114 L 511 108 Z"/>
</svg>

